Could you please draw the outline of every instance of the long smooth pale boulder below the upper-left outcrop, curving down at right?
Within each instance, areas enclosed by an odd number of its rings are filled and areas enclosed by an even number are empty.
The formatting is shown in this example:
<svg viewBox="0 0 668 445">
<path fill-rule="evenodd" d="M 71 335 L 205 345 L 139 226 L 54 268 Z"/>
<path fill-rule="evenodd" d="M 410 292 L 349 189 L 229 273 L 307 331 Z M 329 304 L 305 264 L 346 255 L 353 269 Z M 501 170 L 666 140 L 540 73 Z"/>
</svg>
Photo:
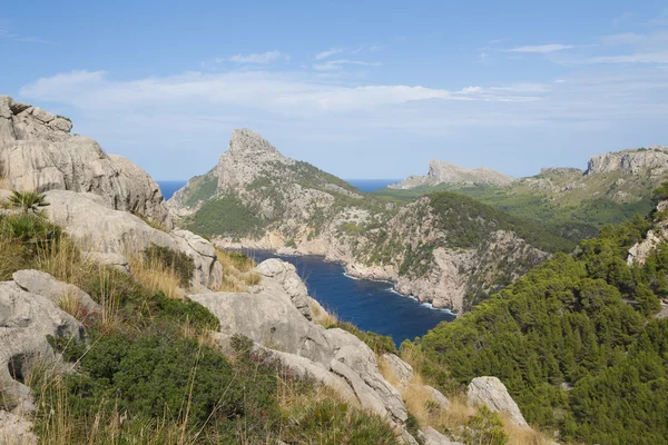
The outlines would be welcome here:
<svg viewBox="0 0 668 445">
<path fill-rule="evenodd" d="M 46 192 L 46 200 L 49 204 L 45 207 L 47 217 L 62 227 L 84 251 L 128 257 L 155 244 L 183 251 L 194 259 L 191 286 L 197 291 L 215 288 L 223 281 L 216 249 L 190 231 L 155 229 L 128 211 L 112 209 L 94 194 L 50 190 Z"/>
</svg>

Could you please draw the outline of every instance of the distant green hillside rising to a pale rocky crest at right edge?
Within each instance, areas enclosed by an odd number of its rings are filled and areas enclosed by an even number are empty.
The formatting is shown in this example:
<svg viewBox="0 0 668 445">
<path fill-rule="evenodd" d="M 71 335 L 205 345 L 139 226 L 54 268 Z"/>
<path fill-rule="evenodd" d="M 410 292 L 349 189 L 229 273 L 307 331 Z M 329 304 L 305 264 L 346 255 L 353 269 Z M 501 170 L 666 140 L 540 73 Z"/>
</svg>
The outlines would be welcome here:
<svg viewBox="0 0 668 445">
<path fill-rule="evenodd" d="M 421 185 L 383 189 L 381 197 L 412 200 L 434 191 L 453 191 L 510 215 L 544 225 L 571 240 L 595 236 L 606 224 L 630 220 L 651 209 L 651 190 L 668 175 L 668 149 L 660 146 L 598 155 L 587 170 L 543 168 L 533 177 L 504 186 Z"/>
</svg>

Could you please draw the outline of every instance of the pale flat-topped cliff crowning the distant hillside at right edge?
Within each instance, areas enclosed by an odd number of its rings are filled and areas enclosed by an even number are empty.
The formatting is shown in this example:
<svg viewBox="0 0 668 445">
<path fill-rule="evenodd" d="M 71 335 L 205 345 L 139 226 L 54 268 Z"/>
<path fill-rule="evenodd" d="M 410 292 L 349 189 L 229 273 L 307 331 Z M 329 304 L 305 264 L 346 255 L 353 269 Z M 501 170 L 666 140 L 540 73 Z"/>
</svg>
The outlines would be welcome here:
<svg viewBox="0 0 668 445">
<path fill-rule="evenodd" d="M 652 146 L 593 156 L 587 164 L 586 175 L 611 171 L 649 171 L 654 177 L 665 176 L 668 174 L 668 148 Z"/>
</svg>

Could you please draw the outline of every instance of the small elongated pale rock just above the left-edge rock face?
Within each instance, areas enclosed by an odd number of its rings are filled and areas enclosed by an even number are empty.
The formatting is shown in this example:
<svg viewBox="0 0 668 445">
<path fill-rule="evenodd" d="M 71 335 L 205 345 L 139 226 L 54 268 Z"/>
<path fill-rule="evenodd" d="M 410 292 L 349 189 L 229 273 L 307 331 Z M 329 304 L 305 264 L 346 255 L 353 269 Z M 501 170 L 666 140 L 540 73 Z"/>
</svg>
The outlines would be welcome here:
<svg viewBox="0 0 668 445">
<path fill-rule="evenodd" d="M 53 301 L 56 305 L 62 298 L 71 297 L 79 301 L 79 305 L 87 314 L 97 314 L 101 312 L 90 295 L 79 289 L 77 286 L 62 283 L 40 270 L 27 269 L 19 270 L 12 275 L 13 281 L 31 294 L 42 295 Z"/>
</svg>

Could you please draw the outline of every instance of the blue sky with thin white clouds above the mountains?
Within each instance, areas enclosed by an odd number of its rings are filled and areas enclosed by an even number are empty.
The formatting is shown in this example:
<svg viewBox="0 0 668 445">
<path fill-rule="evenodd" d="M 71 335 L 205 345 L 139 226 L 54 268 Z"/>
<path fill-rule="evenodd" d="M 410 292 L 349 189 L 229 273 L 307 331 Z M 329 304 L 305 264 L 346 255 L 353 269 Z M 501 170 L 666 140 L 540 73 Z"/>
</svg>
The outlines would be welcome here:
<svg viewBox="0 0 668 445">
<path fill-rule="evenodd" d="M 0 60 L 0 95 L 158 180 L 235 128 L 357 179 L 668 145 L 665 1 L 14 1 Z"/>
</svg>

